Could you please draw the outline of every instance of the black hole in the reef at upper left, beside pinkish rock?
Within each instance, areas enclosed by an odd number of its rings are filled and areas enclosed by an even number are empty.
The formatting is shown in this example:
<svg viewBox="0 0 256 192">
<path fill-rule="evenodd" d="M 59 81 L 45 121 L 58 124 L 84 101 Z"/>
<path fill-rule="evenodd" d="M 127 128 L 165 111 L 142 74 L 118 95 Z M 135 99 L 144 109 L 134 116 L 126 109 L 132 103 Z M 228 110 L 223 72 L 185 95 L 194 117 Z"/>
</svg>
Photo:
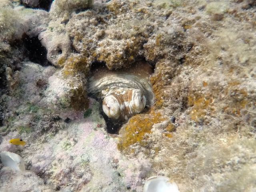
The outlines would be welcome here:
<svg viewBox="0 0 256 192">
<path fill-rule="evenodd" d="M 27 56 L 30 61 L 42 66 L 50 65 L 50 62 L 47 60 L 47 50 L 42 46 L 38 37 L 30 38 L 28 35 L 24 34 L 22 41 L 25 47 L 25 56 Z"/>
</svg>

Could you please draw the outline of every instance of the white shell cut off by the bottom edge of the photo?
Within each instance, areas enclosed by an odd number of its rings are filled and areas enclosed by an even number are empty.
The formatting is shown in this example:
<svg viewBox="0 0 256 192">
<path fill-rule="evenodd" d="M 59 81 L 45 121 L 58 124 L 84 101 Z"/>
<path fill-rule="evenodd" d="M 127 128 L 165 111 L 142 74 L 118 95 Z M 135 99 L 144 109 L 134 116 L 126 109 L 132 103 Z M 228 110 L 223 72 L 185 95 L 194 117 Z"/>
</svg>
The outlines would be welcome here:
<svg viewBox="0 0 256 192">
<path fill-rule="evenodd" d="M 156 176 L 146 180 L 143 192 L 179 192 L 175 182 L 165 176 Z"/>
</svg>

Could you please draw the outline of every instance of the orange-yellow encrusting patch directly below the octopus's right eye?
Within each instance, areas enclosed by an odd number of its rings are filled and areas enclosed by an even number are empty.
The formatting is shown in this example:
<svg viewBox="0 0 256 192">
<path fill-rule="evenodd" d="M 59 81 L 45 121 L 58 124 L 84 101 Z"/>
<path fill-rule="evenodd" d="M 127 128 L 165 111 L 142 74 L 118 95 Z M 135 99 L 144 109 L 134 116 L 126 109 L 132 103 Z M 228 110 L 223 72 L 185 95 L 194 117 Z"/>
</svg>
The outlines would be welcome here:
<svg viewBox="0 0 256 192">
<path fill-rule="evenodd" d="M 147 145 L 148 134 L 151 134 L 152 126 L 166 120 L 160 112 L 151 111 L 150 114 L 138 114 L 130 118 L 127 125 L 121 130 L 121 138 L 118 143 L 120 151 L 134 152 L 130 146 L 139 144 Z"/>
</svg>

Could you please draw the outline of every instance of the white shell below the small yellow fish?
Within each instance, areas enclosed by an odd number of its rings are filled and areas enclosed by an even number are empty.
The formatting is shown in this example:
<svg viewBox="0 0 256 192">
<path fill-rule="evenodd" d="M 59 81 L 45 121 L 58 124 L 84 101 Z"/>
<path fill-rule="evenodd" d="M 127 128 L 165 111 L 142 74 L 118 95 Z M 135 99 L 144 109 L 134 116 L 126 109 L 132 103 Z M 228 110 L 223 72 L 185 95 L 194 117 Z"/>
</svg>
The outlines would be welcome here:
<svg viewBox="0 0 256 192">
<path fill-rule="evenodd" d="M 25 164 L 21 156 L 16 153 L 3 151 L 0 153 L 1 161 L 4 166 L 13 168 L 17 171 L 25 171 Z"/>
</svg>

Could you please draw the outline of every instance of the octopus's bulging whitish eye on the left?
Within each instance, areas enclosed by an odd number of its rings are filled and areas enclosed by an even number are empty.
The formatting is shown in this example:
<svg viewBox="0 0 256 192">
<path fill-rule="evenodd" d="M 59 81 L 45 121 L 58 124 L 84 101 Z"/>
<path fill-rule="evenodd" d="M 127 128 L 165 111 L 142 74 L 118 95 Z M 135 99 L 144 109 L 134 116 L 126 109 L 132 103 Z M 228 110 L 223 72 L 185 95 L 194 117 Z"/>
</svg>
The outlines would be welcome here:
<svg viewBox="0 0 256 192">
<path fill-rule="evenodd" d="M 120 101 L 114 95 L 108 95 L 102 102 L 103 112 L 113 119 L 120 117 Z"/>
</svg>

